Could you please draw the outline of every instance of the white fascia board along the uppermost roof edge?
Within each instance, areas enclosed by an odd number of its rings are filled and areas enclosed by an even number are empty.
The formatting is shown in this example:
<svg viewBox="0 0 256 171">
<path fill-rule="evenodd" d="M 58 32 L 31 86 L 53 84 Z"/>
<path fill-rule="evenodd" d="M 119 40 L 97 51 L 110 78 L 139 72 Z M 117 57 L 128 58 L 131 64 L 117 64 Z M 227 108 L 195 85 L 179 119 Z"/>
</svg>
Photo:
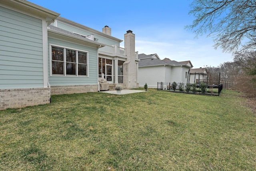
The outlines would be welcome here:
<svg viewBox="0 0 256 171">
<path fill-rule="evenodd" d="M 112 39 L 112 40 L 117 41 L 117 42 L 119 42 L 119 43 L 123 42 L 123 40 L 121 40 L 121 39 L 118 39 L 118 38 L 115 38 L 115 37 L 113 37 L 113 36 L 107 35 L 107 34 L 105 34 L 105 33 L 102 33 L 102 32 L 100 32 L 100 31 L 98 31 L 98 30 L 94 30 L 94 29 L 92 29 L 92 28 L 89 28 L 89 27 L 84 26 L 84 25 L 82 25 L 82 24 L 73 22 L 73 21 L 68 20 L 68 19 L 66 19 L 66 18 L 63 18 L 63 17 L 58 17 L 58 18 L 57 18 L 57 21 L 70 24 L 70 25 L 72 25 L 72 26 L 74 26 L 74 27 L 76 27 L 76 28 L 80 28 L 80 29 L 82 29 L 82 30 L 86 30 L 86 31 L 88 31 L 88 32 L 91 32 L 91 33 L 93 33 L 93 34 L 96 34 L 96 35 L 99 35 L 99 36 L 103 36 L 103 37 Z"/>
</svg>

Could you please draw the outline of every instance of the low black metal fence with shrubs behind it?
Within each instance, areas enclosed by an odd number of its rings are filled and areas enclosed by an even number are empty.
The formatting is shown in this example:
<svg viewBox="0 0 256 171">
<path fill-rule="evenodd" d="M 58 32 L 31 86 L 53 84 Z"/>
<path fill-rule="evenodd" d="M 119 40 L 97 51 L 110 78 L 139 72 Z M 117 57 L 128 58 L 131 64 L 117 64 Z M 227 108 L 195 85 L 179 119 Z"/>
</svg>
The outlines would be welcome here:
<svg viewBox="0 0 256 171">
<path fill-rule="evenodd" d="M 172 91 L 180 93 L 192 93 L 192 94 L 203 94 L 203 95 L 220 95 L 223 85 L 207 85 L 202 86 L 201 84 L 184 84 L 184 83 L 157 83 L 158 91 Z"/>
</svg>

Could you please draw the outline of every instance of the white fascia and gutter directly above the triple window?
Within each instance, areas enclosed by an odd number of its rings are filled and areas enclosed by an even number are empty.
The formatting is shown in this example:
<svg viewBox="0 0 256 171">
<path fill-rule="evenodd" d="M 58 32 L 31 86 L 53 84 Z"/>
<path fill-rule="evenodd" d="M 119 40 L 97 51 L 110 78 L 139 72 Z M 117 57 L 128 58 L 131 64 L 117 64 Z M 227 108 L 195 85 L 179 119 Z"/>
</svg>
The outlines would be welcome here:
<svg viewBox="0 0 256 171">
<path fill-rule="evenodd" d="M 51 30 L 51 29 L 48 29 L 48 37 L 55 38 L 55 39 L 61 39 L 61 40 L 68 41 L 68 42 L 70 40 L 72 40 L 72 42 L 74 42 L 76 44 L 82 44 L 83 46 L 89 46 L 89 47 L 97 48 L 97 49 L 105 46 L 105 44 L 102 44 L 102 43 L 94 42 L 89 39 L 86 40 L 86 39 L 78 38 L 78 37 L 64 34 L 61 32 L 57 32 L 57 31 Z"/>
</svg>

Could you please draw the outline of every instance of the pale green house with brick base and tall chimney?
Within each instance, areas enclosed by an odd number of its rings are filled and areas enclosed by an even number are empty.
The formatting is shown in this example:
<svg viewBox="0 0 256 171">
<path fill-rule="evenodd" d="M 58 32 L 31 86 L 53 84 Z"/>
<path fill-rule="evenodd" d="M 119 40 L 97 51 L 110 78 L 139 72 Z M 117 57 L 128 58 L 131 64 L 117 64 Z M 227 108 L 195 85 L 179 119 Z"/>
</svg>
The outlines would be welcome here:
<svg viewBox="0 0 256 171">
<path fill-rule="evenodd" d="M 135 35 L 122 40 L 26 0 L 0 1 L 0 110 L 50 103 L 51 94 L 99 91 L 98 78 L 138 87 Z"/>
</svg>

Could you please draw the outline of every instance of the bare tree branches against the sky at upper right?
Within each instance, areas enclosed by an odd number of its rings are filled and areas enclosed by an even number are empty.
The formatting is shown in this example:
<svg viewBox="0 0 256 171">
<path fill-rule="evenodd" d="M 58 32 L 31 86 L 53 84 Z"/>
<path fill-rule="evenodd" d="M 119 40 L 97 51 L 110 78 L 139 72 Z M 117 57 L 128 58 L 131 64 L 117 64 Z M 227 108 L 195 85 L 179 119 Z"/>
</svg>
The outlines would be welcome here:
<svg viewBox="0 0 256 171">
<path fill-rule="evenodd" d="M 196 37 L 208 34 L 224 52 L 256 48 L 255 0 L 194 0 L 190 7 L 195 19 L 186 28 Z"/>
</svg>

